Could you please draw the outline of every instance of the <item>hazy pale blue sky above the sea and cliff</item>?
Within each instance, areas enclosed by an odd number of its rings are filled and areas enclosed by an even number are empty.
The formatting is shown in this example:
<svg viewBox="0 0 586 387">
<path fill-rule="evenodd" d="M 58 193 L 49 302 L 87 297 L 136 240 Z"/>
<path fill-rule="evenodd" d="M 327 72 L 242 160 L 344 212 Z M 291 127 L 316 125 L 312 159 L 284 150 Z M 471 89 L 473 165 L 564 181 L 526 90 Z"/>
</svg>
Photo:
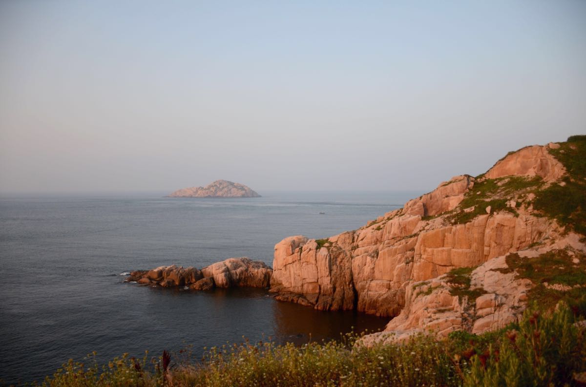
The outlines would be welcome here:
<svg viewBox="0 0 586 387">
<path fill-rule="evenodd" d="M 586 1 L 0 1 L 0 193 L 423 190 L 586 133 Z"/>
</svg>

